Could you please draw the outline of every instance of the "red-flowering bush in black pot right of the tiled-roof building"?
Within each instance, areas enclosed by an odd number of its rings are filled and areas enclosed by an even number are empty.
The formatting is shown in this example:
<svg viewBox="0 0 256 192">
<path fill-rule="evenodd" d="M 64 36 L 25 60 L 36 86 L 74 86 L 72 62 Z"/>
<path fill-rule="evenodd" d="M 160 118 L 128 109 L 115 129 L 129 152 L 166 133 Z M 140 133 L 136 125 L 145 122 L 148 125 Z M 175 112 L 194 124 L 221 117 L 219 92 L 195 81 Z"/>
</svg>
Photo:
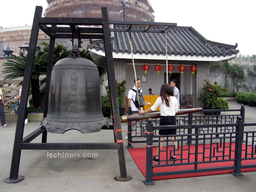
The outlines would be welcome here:
<svg viewBox="0 0 256 192">
<path fill-rule="evenodd" d="M 218 85 L 217 81 L 215 81 L 213 84 L 205 79 L 204 86 L 202 87 L 202 93 L 200 93 L 198 101 L 202 101 L 204 107 L 211 107 L 214 108 L 217 103 L 217 98 L 220 97 L 220 94 L 222 93 L 223 89 L 221 85 Z"/>
</svg>

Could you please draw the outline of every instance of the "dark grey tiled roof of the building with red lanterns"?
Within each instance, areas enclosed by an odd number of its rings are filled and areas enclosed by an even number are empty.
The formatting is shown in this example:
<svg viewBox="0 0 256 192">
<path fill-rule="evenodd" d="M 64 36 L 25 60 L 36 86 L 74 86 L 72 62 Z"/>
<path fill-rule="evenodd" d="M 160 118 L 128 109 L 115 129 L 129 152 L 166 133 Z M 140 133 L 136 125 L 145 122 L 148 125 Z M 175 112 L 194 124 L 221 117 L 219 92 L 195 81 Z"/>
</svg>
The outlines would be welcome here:
<svg viewBox="0 0 256 192">
<path fill-rule="evenodd" d="M 114 27 L 114 28 L 124 28 Z M 135 28 L 135 27 L 134 27 Z M 160 28 L 161 29 L 161 28 Z M 116 53 L 131 53 L 128 41 L 129 32 L 112 32 L 112 50 Z M 163 33 L 135 33 L 132 32 L 132 49 L 134 54 L 165 55 L 165 34 Z M 136 43 L 134 43 L 136 42 Z M 168 55 L 195 55 L 206 57 L 220 57 L 238 54 L 236 45 L 228 45 L 209 41 L 198 33 L 193 27 L 175 26 L 167 30 Z M 91 40 L 89 49 L 104 50 L 104 44 L 99 40 Z"/>
</svg>

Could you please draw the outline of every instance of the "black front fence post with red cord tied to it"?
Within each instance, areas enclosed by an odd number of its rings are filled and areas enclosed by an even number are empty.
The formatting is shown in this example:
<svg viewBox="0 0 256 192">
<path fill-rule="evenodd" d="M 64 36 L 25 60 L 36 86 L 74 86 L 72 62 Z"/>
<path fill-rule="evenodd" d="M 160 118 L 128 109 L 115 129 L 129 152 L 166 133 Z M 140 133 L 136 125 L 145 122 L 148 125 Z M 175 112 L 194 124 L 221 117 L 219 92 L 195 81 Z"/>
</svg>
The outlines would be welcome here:
<svg viewBox="0 0 256 192">
<path fill-rule="evenodd" d="M 148 119 L 147 132 L 150 132 L 147 135 L 147 153 L 146 153 L 146 180 L 144 180 L 145 185 L 154 185 L 155 183 L 152 180 L 153 175 L 153 164 L 152 164 L 152 156 L 153 156 L 153 124 L 152 119 Z"/>
</svg>

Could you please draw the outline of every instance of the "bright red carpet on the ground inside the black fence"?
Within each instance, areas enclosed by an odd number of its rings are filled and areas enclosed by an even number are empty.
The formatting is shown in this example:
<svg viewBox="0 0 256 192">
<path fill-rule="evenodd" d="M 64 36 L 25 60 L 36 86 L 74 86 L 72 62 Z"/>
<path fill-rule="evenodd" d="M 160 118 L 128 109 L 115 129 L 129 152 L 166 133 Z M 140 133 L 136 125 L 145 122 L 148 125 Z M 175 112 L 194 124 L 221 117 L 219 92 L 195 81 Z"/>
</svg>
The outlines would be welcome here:
<svg viewBox="0 0 256 192">
<path fill-rule="evenodd" d="M 229 143 L 225 144 L 225 156 L 229 154 Z M 216 145 L 215 145 L 216 146 Z M 223 155 L 222 151 L 223 147 L 219 148 L 218 150 L 216 148 L 212 149 L 206 149 L 207 147 L 210 147 L 210 144 L 205 145 L 205 157 L 210 156 L 210 152 L 214 154 L 215 157 L 212 158 L 211 161 L 215 161 L 216 158 L 217 160 L 221 160 L 222 157 L 216 157 L 216 156 L 221 156 Z M 242 148 L 245 149 L 245 144 L 243 144 Z M 180 146 L 181 148 L 181 146 Z M 203 152 L 204 145 L 198 145 L 198 153 Z M 169 149 L 171 149 L 169 147 Z M 182 159 L 188 158 L 188 146 L 183 146 L 182 149 Z M 235 143 L 232 143 L 231 150 L 235 149 Z M 165 147 L 163 147 L 162 150 L 166 150 Z M 250 153 L 252 150 L 252 147 L 248 146 L 247 151 Z M 176 152 L 177 159 L 180 159 L 180 151 L 181 149 Z M 132 158 L 134 159 L 136 165 L 139 167 L 140 171 L 142 174 L 146 177 L 146 148 L 129 148 L 129 152 L 132 155 Z M 190 146 L 190 154 L 195 152 L 195 145 Z M 156 148 L 153 148 L 153 155 L 156 154 Z M 161 160 L 165 160 L 165 152 L 161 152 Z M 213 155 L 212 155 L 213 156 Z M 235 152 L 231 152 L 231 158 L 234 158 Z M 242 158 L 245 156 L 245 151 L 242 151 Z M 168 157 L 169 157 L 169 152 L 168 152 Z M 250 156 L 251 157 L 251 156 Z M 256 157 L 254 155 L 253 157 Z M 249 158 L 249 156 L 247 157 Z M 198 162 L 202 162 L 203 159 L 203 154 L 198 155 Z M 225 157 L 224 159 L 228 159 L 228 157 Z M 190 155 L 189 156 L 189 161 L 195 162 L 195 155 Z M 209 161 L 208 159 L 205 159 L 204 161 Z M 183 160 L 182 163 L 188 162 L 187 160 Z M 160 164 L 166 164 L 166 161 L 160 162 Z M 173 164 L 172 162 L 168 161 L 168 164 Z M 182 165 L 180 164 L 180 160 L 177 160 L 175 163 L 177 165 L 175 166 L 166 166 L 166 167 L 154 167 L 153 172 L 167 172 L 167 171 L 180 171 L 180 170 L 194 170 L 194 165 Z M 179 165 L 180 164 L 180 165 Z M 254 160 L 243 160 L 242 165 L 247 165 L 247 164 L 256 164 L 256 159 Z M 158 165 L 158 163 L 153 162 L 153 165 Z M 226 162 L 217 162 L 217 163 L 204 163 L 204 164 L 198 164 L 198 169 L 202 168 L 210 168 L 210 167 L 227 167 L 227 166 L 233 166 L 234 161 L 226 161 Z M 196 177 L 196 176 L 205 176 L 205 175 L 218 175 L 218 174 L 224 174 L 224 173 L 231 173 L 234 170 L 224 170 L 224 171 L 213 171 L 213 172 L 201 172 L 201 173 L 189 173 L 189 174 L 180 174 L 180 175 L 167 175 L 167 176 L 158 176 L 158 177 L 153 177 L 153 180 L 162 180 L 162 179 L 176 179 L 176 178 L 184 178 L 184 177 Z M 250 169 L 241 169 L 241 172 L 248 172 L 248 171 L 256 171 L 255 168 L 250 168 Z"/>
</svg>

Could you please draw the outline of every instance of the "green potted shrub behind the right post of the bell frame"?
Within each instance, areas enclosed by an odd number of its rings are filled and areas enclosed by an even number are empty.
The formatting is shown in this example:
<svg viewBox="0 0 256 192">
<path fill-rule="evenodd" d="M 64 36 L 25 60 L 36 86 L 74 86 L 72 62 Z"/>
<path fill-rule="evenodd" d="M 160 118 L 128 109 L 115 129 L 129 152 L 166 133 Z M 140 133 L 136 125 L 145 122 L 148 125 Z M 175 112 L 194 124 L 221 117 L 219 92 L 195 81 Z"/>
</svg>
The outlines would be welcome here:
<svg viewBox="0 0 256 192">
<path fill-rule="evenodd" d="M 116 92 L 117 92 L 117 100 L 118 100 L 118 106 L 119 106 L 119 114 L 120 116 L 124 115 L 125 112 L 125 108 L 123 107 L 124 101 L 125 101 L 125 88 L 126 85 L 126 80 L 123 80 L 122 82 L 118 83 L 116 81 Z M 106 106 L 110 108 L 110 96 L 109 96 L 109 86 L 105 86 L 106 89 L 106 96 L 105 97 L 101 97 L 101 105 L 102 106 Z M 102 102 L 105 102 L 105 104 L 103 104 Z M 103 107 L 102 107 L 102 111 L 103 111 Z"/>
</svg>

